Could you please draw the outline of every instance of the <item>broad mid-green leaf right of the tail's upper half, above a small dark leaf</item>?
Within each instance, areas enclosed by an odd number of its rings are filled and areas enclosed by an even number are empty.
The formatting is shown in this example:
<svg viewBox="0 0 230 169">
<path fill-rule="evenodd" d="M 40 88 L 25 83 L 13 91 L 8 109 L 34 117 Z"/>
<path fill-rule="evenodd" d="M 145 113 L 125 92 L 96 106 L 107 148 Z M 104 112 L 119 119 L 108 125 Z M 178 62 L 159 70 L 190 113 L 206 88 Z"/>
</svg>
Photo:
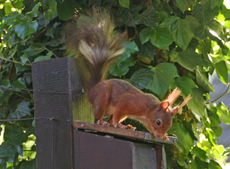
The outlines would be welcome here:
<svg viewBox="0 0 230 169">
<path fill-rule="evenodd" d="M 149 41 L 160 49 L 169 49 L 169 45 L 173 42 L 172 35 L 166 27 L 146 27 L 140 32 L 141 43 Z"/>
</svg>

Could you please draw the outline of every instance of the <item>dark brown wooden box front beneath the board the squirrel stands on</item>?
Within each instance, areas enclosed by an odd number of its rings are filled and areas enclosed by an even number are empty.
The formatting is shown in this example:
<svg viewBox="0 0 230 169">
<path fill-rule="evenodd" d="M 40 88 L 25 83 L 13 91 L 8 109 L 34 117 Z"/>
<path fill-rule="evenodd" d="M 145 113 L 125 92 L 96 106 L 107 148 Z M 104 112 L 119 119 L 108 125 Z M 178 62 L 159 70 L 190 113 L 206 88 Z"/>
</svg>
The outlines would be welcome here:
<svg viewBox="0 0 230 169">
<path fill-rule="evenodd" d="M 74 131 L 75 169 L 156 169 L 154 144 Z"/>
</svg>

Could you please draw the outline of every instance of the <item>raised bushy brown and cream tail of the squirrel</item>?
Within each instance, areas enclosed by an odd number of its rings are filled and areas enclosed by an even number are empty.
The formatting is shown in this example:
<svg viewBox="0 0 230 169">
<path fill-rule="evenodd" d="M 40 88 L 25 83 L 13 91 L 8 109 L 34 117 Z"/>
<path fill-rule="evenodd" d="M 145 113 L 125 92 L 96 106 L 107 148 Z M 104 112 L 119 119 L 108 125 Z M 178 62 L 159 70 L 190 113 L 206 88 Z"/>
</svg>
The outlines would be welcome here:
<svg viewBox="0 0 230 169">
<path fill-rule="evenodd" d="M 89 76 L 88 88 L 104 80 L 109 68 L 125 51 L 125 35 L 114 29 L 109 12 L 103 9 L 93 9 L 88 16 L 79 17 L 77 24 L 67 26 L 67 49 L 77 52 L 83 60 Z"/>
</svg>

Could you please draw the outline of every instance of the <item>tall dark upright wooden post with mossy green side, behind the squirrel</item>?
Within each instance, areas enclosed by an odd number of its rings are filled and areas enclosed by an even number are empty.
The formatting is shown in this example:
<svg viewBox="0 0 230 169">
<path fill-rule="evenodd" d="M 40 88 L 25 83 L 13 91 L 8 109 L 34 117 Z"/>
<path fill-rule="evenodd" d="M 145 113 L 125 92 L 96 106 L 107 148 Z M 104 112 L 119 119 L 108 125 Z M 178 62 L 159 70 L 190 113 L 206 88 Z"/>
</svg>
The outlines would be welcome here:
<svg viewBox="0 0 230 169">
<path fill-rule="evenodd" d="M 74 168 L 72 119 L 93 122 L 76 65 L 74 58 L 32 64 L 38 169 Z"/>
</svg>

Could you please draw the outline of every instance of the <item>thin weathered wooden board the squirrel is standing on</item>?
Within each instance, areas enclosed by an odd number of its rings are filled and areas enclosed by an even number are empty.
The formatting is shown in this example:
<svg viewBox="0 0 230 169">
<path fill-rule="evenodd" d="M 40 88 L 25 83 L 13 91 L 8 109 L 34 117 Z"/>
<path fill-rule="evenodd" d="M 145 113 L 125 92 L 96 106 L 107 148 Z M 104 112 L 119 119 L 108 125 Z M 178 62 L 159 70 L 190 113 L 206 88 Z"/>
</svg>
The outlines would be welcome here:
<svg viewBox="0 0 230 169">
<path fill-rule="evenodd" d="M 169 140 L 163 140 L 155 137 L 152 133 L 142 132 L 142 131 L 133 131 L 128 129 L 114 128 L 110 126 L 102 126 L 92 123 L 85 123 L 81 121 L 73 121 L 73 126 L 78 129 L 92 130 L 101 133 L 107 133 L 112 135 L 119 135 L 123 137 L 130 137 L 134 139 L 139 139 L 148 142 L 158 142 L 166 144 L 176 144 L 177 137 L 168 136 Z"/>
</svg>

